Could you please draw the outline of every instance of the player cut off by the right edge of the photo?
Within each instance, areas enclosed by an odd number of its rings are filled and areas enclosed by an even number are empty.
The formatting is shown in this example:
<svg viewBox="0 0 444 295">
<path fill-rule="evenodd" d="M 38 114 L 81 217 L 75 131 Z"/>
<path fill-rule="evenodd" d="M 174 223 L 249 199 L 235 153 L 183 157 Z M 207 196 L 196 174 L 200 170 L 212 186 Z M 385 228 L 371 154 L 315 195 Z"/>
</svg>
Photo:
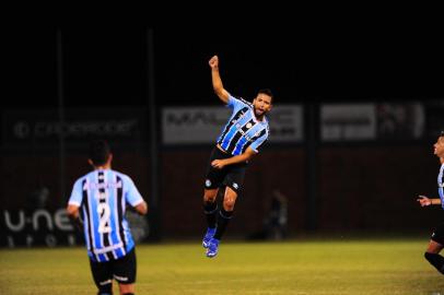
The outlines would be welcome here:
<svg viewBox="0 0 444 295">
<path fill-rule="evenodd" d="M 418 201 L 421 206 L 436 204 L 444 209 L 444 131 L 441 132 L 441 135 L 437 138 L 437 141 L 433 148 L 434 154 L 440 158 L 441 162 L 440 174 L 437 175 L 437 192 L 440 198 L 432 199 L 425 196 L 419 196 Z M 442 257 L 440 252 L 443 248 L 444 223 L 441 223 L 432 233 L 432 237 L 429 241 L 429 247 L 424 253 L 424 257 L 442 274 L 444 274 L 444 257 Z"/>
</svg>

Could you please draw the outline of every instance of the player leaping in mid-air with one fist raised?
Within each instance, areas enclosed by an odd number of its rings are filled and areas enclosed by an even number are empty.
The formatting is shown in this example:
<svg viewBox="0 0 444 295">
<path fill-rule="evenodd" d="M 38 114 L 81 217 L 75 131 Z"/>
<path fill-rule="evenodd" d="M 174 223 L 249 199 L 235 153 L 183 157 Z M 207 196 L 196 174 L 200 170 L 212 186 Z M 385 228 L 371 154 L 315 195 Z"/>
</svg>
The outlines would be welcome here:
<svg viewBox="0 0 444 295">
<path fill-rule="evenodd" d="M 203 212 L 208 228 L 202 245 L 207 248 L 207 257 L 212 258 L 218 253 L 219 243 L 233 215 L 247 163 L 268 139 L 266 114 L 271 110 L 273 95 L 267 88 L 258 92 L 253 104 L 235 98 L 223 87 L 218 56 L 213 56 L 209 64 L 217 96 L 233 111 L 211 152 L 205 181 Z M 223 187 L 225 192 L 219 210 L 217 196 Z"/>
</svg>

